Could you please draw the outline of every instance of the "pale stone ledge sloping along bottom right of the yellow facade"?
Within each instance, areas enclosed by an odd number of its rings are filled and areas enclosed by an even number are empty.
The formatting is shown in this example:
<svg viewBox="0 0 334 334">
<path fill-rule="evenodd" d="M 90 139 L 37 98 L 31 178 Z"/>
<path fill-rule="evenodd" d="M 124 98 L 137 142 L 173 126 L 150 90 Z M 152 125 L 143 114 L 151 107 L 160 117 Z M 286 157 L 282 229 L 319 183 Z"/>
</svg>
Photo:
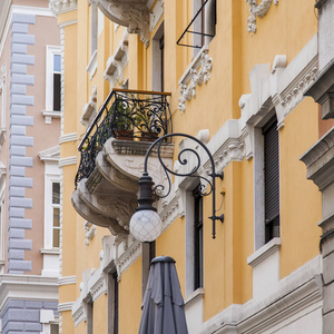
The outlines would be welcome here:
<svg viewBox="0 0 334 334">
<path fill-rule="evenodd" d="M 321 310 L 321 257 L 316 256 L 281 279 L 271 295 L 227 307 L 204 323 L 198 333 L 265 333 L 296 315 L 299 318 L 301 310 L 304 315 Z"/>
</svg>

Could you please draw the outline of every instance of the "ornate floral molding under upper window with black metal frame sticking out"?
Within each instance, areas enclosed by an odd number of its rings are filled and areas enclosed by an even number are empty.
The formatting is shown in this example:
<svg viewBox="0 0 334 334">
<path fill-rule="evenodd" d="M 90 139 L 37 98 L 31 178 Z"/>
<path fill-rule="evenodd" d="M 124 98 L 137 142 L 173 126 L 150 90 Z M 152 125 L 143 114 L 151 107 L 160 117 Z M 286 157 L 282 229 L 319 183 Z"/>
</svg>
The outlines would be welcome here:
<svg viewBox="0 0 334 334">
<path fill-rule="evenodd" d="M 186 101 L 196 98 L 196 87 L 202 86 L 203 82 L 208 82 L 212 69 L 213 59 L 208 56 L 208 47 L 204 46 L 178 81 L 180 89 L 178 109 L 180 114 L 186 111 Z"/>
</svg>

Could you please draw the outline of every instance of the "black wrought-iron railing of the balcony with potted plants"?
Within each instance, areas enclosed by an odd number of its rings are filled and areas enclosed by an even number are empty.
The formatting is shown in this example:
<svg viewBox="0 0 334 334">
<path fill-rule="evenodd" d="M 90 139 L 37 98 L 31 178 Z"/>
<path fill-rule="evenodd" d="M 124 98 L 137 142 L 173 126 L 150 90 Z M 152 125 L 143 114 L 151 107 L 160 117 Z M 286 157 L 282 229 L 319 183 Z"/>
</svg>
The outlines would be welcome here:
<svg viewBox="0 0 334 334">
<path fill-rule="evenodd" d="M 121 140 L 154 141 L 173 132 L 168 92 L 114 89 L 82 138 L 76 187 L 88 178 L 95 159 L 110 137 Z"/>
</svg>

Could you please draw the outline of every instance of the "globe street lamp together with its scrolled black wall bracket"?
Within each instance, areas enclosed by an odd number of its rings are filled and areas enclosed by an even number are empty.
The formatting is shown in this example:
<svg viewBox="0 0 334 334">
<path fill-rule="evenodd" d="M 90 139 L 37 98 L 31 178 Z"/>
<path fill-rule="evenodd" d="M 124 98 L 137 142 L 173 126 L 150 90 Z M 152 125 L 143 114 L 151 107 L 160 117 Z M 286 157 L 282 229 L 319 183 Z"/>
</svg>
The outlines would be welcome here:
<svg viewBox="0 0 334 334">
<path fill-rule="evenodd" d="M 188 161 L 187 159 L 183 158 L 183 155 L 185 153 L 190 153 L 196 157 L 196 166 L 193 168 L 190 173 L 176 173 L 169 169 L 163 161 L 161 156 L 160 156 L 160 147 L 161 144 L 166 138 L 170 137 L 185 137 L 189 138 L 190 140 L 196 141 L 199 146 L 204 148 L 206 154 L 208 155 L 209 161 L 210 161 L 210 167 L 212 167 L 212 174 L 209 174 L 209 177 L 212 180 L 207 179 L 206 177 L 198 176 L 197 170 L 200 167 L 200 157 L 198 153 L 193 149 L 193 148 L 184 148 L 179 154 L 178 154 L 178 161 L 180 165 L 187 165 Z M 154 181 L 151 180 L 151 177 L 147 173 L 147 161 L 150 151 L 153 148 L 157 146 L 157 155 L 159 163 L 161 164 L 166 176 L 167 180 L 169 184 L 168 191 L 165 195 L 158 194 L 158 190 L 164 190 L 165 187 L 163 185 L 157 185 L 154 187 Z M 171 183 L 170 183 L 170 177 L 168 174 L 175 175 L 175 176 L 183 176 L 183 177 L 197 177 L 200 179 L 204 179 L 208 184 L 208 190 L 205 191 L 204 187 L 200 186 L 199 191 L 203 196 L 213 196 L 213 215 L 208 217 L 209 219 L 213 220 L 213 238 L 216 237 L 216 220 L 220 220 L 222 223 L 224 222 L 224 215 L 216 216 L 216 183 L 215 179 L 219 177 L 223 179 L 224 173 L 218 173 L 216 174 L 215 171 L 215 163 L 214 158 L 208 150 L 208 148 L 197 138 L 186 135 L 186 134 L 168 134 L 165 136 L 159 137 L 157 140 L 155 140 L 150 147 L 148 148 L 145 160 L 144 160 L 144 173 L 143 176 L 138 180 L 139 185 L 139 197 L 137 199 L 139 207 L 136 209 L 136 213 L 130 219 L 130 233 L 135 236 L 136 239 L 140 242 L 154 242 L 163 232 L 163 222 L 160 216 L 157 214 L 157 209 L 153 206 L 153 203 L 155 202 L 154 195 L 156 195 L 159 198 L 164 198 L 169 195 L 170 188 L 171 188 Z"/>
</svg>

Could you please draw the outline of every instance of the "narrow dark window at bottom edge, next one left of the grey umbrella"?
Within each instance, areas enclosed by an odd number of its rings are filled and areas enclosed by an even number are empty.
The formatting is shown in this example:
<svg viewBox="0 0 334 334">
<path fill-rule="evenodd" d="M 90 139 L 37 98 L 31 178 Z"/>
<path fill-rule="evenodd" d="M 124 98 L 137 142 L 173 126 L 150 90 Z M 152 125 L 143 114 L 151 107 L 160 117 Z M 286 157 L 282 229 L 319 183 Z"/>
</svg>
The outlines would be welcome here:
<svg viewBox="0 0 334 334">
<path fill-rule="evenodd" d="M 108 334 L 118 334 L 118 279 L 117 273 L 108 274 Z"/>
</svg>

